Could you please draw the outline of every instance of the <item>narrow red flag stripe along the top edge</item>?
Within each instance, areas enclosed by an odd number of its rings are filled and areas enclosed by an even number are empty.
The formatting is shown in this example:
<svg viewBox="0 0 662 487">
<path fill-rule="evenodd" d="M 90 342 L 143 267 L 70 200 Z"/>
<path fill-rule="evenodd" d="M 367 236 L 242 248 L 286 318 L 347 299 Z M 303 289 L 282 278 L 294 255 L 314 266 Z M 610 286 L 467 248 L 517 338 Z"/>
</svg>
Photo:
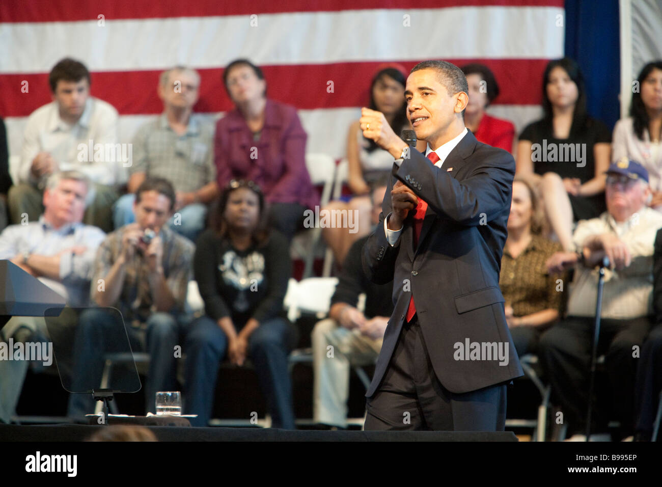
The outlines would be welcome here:
<svg viewBox="0 0 662 487">
<path fill-rule="evenodd" d="M 285 12 L 363 9 L 439 9 L 444 7 L 563 7 L 563 0 L 19 0 L 0 3 L 2 22 L 96 21 L 113 19 L 169 19 Z"/>
</svg>

